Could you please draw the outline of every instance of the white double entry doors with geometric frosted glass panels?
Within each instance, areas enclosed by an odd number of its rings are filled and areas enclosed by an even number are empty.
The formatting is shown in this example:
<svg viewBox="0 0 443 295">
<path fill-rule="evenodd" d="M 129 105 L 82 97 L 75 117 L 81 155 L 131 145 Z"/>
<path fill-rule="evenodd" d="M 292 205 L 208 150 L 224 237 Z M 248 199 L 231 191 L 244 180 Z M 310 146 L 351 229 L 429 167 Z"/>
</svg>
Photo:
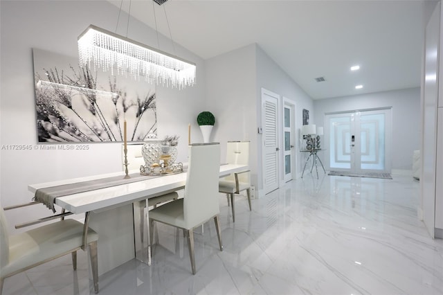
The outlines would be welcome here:
<svg viewBox="0 0 443 295">
<path fill-rule="evenodd" d="M 329 170 L 390 172 L 391 109 L 327 114 Z"/>
</svg>

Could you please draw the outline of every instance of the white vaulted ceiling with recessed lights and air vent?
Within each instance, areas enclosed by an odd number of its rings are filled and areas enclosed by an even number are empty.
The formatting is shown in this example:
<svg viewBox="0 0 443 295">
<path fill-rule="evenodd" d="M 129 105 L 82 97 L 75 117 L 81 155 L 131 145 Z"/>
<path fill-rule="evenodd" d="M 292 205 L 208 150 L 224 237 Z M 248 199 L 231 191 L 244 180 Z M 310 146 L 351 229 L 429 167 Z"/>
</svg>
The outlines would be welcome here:
<svg viewBox="0 0 443 295">
<path fill-rule="evenodd" d="M 165 36 L 170 36 L 169 22 L 174 42 L 205 60 L 256 43 L 314 99 L 419 87 L 425 6 L 433 3 L 170 0 L 153 6 L 150 0 L 109 2 L 118 8 L 121 4 L 126 12 L 130 3 L 132 17 L 152 28 L 157 25 Z M 356 64 L 359 71 L 350 71 Z M 325 81 L 316 82 L 319 77 Z M 363 88 L 355 89 L 357 84 Z"/>
</svg>

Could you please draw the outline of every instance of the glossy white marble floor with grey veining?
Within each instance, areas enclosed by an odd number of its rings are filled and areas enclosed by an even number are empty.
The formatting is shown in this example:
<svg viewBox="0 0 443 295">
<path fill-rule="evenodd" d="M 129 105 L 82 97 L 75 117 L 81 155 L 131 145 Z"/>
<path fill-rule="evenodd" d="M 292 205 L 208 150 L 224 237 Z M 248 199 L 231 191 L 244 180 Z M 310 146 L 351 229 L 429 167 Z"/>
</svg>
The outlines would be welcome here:
<svg viewBox="0 0 443 295">
<path fill-rule="evenodd" d="M 183 234 L 157 226 L 151 267 L 129 261 L 100 276 L 100 294 L 443 294 L 443 240 L 417 219 L 419 183 L 305 175 L 260 199 L 220 195 L 215 226 L 195 234 L 192 276 Z M 201 233 L 201 229 L 197 230 Z M 80 251 L 81 252 L 81 251 Z M 10 278 L 3 294 L 89 294 L 87 256 Z"/>
</svg>

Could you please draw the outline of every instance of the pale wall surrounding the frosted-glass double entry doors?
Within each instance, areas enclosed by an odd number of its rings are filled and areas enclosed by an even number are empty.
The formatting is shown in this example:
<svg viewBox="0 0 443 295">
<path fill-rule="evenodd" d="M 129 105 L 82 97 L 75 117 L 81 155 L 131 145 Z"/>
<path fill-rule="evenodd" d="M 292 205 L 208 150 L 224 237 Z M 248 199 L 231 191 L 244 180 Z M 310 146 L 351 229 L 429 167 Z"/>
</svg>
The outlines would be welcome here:
<svg viewBox="0 0 443 295">
<path fill-rule="evenodd" d="M 335 111 L 378 107 L 392 107 L 392 169 L 412 170 L 413 151 L 420 150 L 422 136 L 419 87 L 314 100 L 315 122 L 323 126 L 325 114 Z"/>
</svg>

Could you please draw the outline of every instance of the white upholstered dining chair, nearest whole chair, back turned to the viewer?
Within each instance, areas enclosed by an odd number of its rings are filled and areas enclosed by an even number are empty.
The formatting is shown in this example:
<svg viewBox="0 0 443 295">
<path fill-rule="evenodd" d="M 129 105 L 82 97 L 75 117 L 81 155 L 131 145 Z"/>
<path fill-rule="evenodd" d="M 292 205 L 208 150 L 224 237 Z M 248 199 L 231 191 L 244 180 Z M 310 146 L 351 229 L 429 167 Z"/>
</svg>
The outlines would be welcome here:
<svg viewBox="0 0 443 295">
<path fill-rule="evenodd" d="M 162 222 L 183 229 L 188 238 L 188 249 L 195 274 L 193 229 L 214 219 L 223 251 L 219 224 L 218 183 L 220 170 L 219 143 L 197 143 L 189 146 L 189 166 L 186 176 L 185 194 L 181 199 L 154 208 L 150 211 L 151 243 L 154 222 Z"/>
</svg>

